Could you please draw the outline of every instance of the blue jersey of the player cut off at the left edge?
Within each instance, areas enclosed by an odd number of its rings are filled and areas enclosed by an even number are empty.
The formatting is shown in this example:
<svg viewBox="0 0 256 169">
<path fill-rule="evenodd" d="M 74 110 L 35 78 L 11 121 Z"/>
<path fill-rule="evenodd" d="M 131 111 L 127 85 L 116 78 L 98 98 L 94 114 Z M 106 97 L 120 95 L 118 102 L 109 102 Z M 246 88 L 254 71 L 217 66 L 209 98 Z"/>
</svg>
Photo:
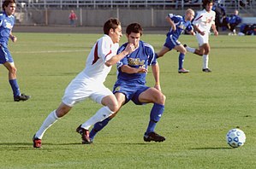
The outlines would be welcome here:
<svg viewBox="0 0 256 169">
<path fill-rule="evenodd" d="M 5 12 L 0 13 L 0 44 L 7 47 L 9 41 L 9 34 L 15 25 L 15 16 L 6 15 Z"/>
</svg>

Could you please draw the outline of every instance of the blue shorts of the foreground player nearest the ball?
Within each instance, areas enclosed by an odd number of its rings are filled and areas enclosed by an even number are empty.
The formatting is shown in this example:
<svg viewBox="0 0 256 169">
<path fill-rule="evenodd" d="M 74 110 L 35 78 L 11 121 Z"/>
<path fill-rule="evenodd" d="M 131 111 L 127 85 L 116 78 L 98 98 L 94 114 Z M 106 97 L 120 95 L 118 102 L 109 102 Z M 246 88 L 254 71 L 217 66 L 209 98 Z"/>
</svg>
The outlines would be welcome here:
<svg viewBox="0 0 256 169">
<path fill-rule="evenodd" d="M 140 85 L 140 84 L 130 85 L 130 84 L 126 84 L 123 81 L 117 81 L 116 84 L 114 85 L 113 93 L 114 94 L 116 92 L 123 93 L 126 97 L 126 101 L 124 102 L 124 104 L 126 104 L 127 102 L 132 100 L 134 102 L 134 104 L 142 105 L 145 103 L 139 101 L 139 96 L 143 91 L 145 91 L 149 88 L 150 87 L 148 87 L 146 85 Z"/>
</svg>

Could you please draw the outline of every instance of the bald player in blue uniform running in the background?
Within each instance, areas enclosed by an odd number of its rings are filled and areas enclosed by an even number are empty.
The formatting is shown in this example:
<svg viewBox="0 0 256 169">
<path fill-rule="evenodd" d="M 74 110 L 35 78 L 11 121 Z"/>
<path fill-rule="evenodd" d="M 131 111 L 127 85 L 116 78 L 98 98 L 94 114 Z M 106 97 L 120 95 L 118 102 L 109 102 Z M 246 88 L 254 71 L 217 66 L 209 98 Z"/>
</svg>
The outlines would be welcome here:
<svg viewBox="0 0 256 169">
<path fill-rule="evenodd" d="M 164 56 L 165 53 L 169 52 L 172 49 L 179 51 L 180 55 L 178 73 L 189 73 L 189 70 L 183 67 L 183 62 L 187 50 L 178 41 L 178 38 L 185 30 L 190 32 L 190 34 L 194 35 L 193 26 L 191 25 L 191 20 L 193 20 L 193 17 L 193 9 L 187 9 L 185 16 L 169 14 L 165 17 L 167 22 L 170 23 L 170 31 L 166 34 L 165 44 L 162 50 L 157 53 L 157 57 Z"/>
</svg>

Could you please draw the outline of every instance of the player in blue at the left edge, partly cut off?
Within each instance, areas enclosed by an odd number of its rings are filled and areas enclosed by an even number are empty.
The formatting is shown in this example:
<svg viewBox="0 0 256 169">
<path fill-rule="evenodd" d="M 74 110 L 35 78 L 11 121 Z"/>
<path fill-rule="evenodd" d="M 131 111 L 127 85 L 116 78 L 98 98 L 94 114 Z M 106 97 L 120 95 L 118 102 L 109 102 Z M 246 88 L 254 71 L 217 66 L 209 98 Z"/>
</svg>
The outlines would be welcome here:
<svg viewBox="0 0 256 169">
<path fill-rule="evenodd" d="M 16 79 L 16 67 L 12 56 L 8 50 L 9 38 L 16 42 L 17 38 L 12 34 L 12 28 L 15 25 L 15 0 L 3 1 L 3 12 L 0 13 L 0 64 L 3 64 L 9 71 L 9 84 L 14 93 L 15 102 L 27 101 L 30 96 L 21 94 Z"/>
</svg>

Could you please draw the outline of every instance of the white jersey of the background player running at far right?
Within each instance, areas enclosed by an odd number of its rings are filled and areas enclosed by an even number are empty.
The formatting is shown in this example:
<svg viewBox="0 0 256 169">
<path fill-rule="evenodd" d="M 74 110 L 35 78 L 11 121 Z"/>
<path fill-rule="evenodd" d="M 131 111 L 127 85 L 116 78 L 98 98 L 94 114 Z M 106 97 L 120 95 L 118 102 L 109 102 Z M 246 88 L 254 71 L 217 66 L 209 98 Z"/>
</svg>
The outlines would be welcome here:
<svg viewBox="0 0 256 169">
<path fill-rule="evenodd" d="M 215 15 L 213 10 L 201 10 L 194 18 L 193 25 L 198 26 L 201 32 L 210 32 L 212 24 L 215 24 Z"/>
</svg>

